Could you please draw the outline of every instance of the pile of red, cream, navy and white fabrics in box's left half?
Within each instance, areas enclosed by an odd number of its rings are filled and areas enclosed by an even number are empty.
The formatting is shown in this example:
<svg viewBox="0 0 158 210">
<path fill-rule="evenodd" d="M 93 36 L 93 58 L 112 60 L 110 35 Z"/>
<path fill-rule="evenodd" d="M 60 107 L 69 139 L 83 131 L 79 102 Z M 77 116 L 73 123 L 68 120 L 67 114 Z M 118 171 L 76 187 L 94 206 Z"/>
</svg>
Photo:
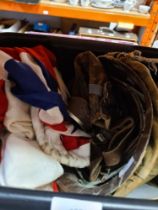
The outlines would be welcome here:
<svg viewBox="0 0 158 210">
<path fill-rule="evenodd" d="M 43 46 L 0 49 L 0 184 L 39 188 L 63 166 L 89 165 L 90 136 L 68 114 L 68 90 Z"/>
</svg>

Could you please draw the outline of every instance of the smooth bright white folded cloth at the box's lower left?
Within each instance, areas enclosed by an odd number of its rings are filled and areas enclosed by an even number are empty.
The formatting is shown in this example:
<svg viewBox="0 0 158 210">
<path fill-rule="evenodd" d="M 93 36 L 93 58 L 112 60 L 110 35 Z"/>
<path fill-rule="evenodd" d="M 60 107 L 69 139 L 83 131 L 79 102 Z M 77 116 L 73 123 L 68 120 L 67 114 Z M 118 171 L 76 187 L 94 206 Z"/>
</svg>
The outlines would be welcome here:
<svg viewBox="0 0 158 210">
<path fill-rule="evenodd" d="M 60 163 L 15 134 L 3 138 L 0 185 L 35 189 L 63 174 Z"/>
</svg>

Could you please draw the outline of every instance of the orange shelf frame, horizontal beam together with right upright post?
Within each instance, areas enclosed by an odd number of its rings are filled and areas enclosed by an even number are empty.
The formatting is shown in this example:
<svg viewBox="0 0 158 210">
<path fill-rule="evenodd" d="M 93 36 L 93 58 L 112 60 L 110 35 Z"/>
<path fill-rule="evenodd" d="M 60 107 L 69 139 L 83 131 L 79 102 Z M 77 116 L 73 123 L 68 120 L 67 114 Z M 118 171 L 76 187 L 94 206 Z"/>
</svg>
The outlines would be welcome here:
<svg viewBox="0 0 158 210">
<path fill-rule="evenodd" d="M 51 0 L 41 0 L 39 4 L 17 3 L 14 0 L 0 0 L 0 11 L 42 14 L 64 18 L 100 21 L 125 22 L 143 26 L 144 33 L 140 44 L 151 46 L 158 30 L 158 0 L 153 0 L 150 14 L 125 12 L 121 9 L 96 9 L 93 7 L 74 7 L 69 4 L 54 3 Z"/>
</svg>

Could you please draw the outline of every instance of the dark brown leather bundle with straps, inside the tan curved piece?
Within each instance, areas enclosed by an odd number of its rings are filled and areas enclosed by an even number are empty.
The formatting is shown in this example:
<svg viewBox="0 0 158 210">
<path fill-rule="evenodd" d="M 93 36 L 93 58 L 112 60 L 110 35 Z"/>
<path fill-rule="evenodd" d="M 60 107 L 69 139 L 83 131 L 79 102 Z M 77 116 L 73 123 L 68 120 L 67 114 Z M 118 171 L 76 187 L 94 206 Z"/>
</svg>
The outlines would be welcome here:
<svg viewBox="0 0 158 210">
<path fill-rule="evenodd" d="M 84 52 L 75 59 L 71 95 L 69 110 L 92 136 L 92 142 L 86 178 L 80 171 L 91 187 L 81 186 L 80 180 L 74 178 L 78 181 L 72 181 L 69 191 L 77 192 L 75 185 L 84 193 L 114 193 L 145 155 L 153 122 L 149 90 L 132 66 L 120 62 L 120 58 L 113 54 L 97 58 Z M 79 103 L 82 109 L 75 105 Z M 62 179 L 65 178 L 61 177 L 60 183 Z"/>
</svg>

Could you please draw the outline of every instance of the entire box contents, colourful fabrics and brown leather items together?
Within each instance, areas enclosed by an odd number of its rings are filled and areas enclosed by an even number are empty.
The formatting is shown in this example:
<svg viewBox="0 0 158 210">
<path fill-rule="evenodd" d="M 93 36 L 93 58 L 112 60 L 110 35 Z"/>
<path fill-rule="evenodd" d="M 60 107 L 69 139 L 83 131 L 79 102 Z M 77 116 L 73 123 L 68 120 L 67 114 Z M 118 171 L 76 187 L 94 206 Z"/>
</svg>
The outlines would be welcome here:
<svg viewBox="0 0 158 210">
<path fill-rule="evenodd" d="M 72 62 L 68 90 L 44 46 L 0 48 L 0 185 L 125 196 L 158 174 L 158 60 Z"/>
</svg>

